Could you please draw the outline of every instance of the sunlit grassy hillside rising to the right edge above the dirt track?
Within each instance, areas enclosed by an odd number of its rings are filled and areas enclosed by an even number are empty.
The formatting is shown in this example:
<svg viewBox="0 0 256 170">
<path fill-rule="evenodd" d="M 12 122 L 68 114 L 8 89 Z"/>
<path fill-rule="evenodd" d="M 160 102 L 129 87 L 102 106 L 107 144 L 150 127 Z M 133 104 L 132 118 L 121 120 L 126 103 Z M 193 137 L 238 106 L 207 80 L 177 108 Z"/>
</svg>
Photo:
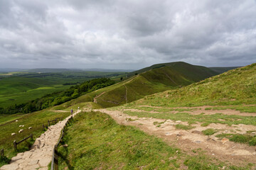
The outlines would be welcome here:
<svg viewBox="0 0 256 170">
<path fill-rule="evenodd" d="M 181 89 L 146 96 L 136 101 L 151 106 L 256 104 L 256 64 L 233 69 Z"/>
</svg>

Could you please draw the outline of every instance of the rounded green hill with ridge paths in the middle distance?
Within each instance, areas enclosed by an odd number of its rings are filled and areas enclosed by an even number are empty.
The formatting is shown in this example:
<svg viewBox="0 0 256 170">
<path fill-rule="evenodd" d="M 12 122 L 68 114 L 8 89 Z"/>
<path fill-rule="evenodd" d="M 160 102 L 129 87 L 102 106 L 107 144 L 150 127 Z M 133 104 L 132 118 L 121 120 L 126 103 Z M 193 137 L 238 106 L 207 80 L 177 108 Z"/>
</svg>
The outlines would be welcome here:
<svg viewBox="0 0 256 170">
<path fill-rule="evenodd" d="M 86 94 L 78 98 L 78 102 L 94 102 L 91 103 L 93 107 L 103 108 L 119 106 L 149 94 L 177 89 L 217 74 L 206 67 L 185 62 L 166 63 L 166 65 L 168 66 L 150 69 L 146 72 L 139 70 L 141 74 L 119 84 Z"/>
</svg>

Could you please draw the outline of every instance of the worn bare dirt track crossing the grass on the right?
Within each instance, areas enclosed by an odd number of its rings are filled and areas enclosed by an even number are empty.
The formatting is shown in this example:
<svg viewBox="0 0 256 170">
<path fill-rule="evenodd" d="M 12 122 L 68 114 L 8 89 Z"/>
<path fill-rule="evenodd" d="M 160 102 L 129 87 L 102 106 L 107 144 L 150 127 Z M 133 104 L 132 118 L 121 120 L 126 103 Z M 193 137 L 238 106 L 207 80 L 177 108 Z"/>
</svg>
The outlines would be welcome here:
<svg viewBox="0 0 256 170">
<path fill-rule="evenodd" d="M 237 133 L 245 133 L 248 130 L 255 130 L 253 125 L 223 125 L 210 124 L 207 127 L 201 127 L 198 123 L 192 130 L 178 130 L 175 128 L 177 124 L 188 125 L 186 122 L 162 120 L 156 118 L 138 118 L 137 116 L 129 116 L 122 113 L 122 111 L 107 111 L 100 109 L 103 113 L 110 115 L 117 123 L 122 125 L 133 125 L 143 130 L 150 135 L 156 135 L 164 139 L 169 145 L 176 145 L 181 148 L 183 152 L 188 154 L 195 154 L 194 149 L 203 149 L 210 157 L 214 157 L 222 162 L 228 161 L 233 165 L 245 165 L 249 162 L 256 162 L 255 147 L 250 147 L 244 144 L 238 144 L 226 140 L 218 140 L 215 135 L 218 133 L 232 133 L 234 130 Z M 155 124 L 155 125 L 154 125 Z M 160 125 L 160 127 L 157 127 Z M 219 130 L 211 136 L 203 135 L 202 130 L 214 128 Z"/>
</svg>

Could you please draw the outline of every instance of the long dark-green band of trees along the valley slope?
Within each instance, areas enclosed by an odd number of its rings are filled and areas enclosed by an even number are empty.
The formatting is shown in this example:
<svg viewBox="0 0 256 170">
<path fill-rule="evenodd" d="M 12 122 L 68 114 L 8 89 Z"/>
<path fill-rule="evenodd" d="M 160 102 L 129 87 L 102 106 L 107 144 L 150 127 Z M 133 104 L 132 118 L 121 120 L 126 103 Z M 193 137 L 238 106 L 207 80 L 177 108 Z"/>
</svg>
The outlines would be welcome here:
<svg viewBox="0 0 256 170">
<path fill-rule="evenodd" d="M 80 85 L 71 86 L 68 90 L 48 94 L 42 98 L 37 98 L 36 100 L 29 101 L 27 103 L 15 104 L 8 108 L 0 108 L 0 114 L 31 113 L 33 111 L 40 111 L 43 108 L 65 103 L 73 98 L 78 98 L 79 96 L 90 93 L 91 91 L 95 91 L 112 84 L 114 84 L 114 80 L 108 78 L 92 79 L 90 81 L 85 81 Z"/>
</svg>

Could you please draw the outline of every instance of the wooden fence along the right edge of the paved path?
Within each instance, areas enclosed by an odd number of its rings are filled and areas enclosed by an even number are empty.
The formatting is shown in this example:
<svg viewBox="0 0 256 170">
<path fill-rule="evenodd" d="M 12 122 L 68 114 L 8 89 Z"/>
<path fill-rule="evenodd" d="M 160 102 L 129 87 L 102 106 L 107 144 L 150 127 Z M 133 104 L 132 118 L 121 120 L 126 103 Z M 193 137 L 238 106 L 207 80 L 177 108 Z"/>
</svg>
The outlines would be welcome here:
<svg viewBox="0 0 256 170">
<path fill-rule="evenodd" d="M 60 139 L 58 140 L 57 144 L 54 145 L 54 149 L 53 149 L 53 158 L 52 158 L 52 162 L 51 162 L 51 166 L 50 166 L 50 170 L 56 170 L 58 169 L 58 145 L 60 145 L 60 141 L 63 140 L 64 137 L 64 130 L 66 128 L 66 126 L 68 125 L 68 123 L 70 123 L 70 120 L 73 119 L 73 116 L 71 116 L 68 121 L 65 123 L 63 130 L 61 130 L 61 135 L 60 135 Z"/>
</svg>

